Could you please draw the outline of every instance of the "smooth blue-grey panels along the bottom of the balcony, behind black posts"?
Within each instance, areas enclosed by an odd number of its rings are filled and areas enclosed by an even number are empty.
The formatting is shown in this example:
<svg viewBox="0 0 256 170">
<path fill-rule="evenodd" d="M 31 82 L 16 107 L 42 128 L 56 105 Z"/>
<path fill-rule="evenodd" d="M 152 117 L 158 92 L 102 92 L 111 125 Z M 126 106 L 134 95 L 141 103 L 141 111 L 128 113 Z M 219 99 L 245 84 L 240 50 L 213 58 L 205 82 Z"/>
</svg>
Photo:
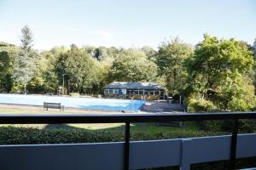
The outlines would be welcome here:
<svg viewBox="0 0 256 170">
<path fill-rule="evenodd" d="M 181 166 L 230 159 L 231 137 L 131 142 L 131 169 Z M 256 134 L 240 134 L 237 158 L 256 156 Z M 124 143 L 19 144 L 0 146 L 1 170 L 123 169 Z"/>
</svg>

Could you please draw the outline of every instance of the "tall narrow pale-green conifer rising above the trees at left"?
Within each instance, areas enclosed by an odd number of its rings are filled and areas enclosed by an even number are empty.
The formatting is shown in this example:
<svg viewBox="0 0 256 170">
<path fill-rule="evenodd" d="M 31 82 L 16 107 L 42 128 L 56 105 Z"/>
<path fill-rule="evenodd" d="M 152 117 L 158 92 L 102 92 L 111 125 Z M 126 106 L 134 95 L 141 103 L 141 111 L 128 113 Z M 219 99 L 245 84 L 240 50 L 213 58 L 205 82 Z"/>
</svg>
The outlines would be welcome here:
<svg viewBox="0 0 256 170">
<path fill-rule="evenodd" d="M 32 31 L 28 26 L 21 29 L 21 49 L 15 58 L 14 79 L 24 86 L 24 94 L 26 94 L 26 85 L 32 80 L 36 71 L 37 54 L 32 50 Z"/>
</svg>

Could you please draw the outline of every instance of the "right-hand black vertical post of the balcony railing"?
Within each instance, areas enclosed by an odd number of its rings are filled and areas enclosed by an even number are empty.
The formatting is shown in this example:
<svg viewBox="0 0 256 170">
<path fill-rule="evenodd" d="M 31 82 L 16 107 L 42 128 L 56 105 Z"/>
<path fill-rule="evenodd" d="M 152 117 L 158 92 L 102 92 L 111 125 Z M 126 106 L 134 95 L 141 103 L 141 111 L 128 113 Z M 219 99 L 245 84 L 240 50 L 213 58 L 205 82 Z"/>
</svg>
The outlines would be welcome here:
<svg viewBox="0 0 256 170">
<path fill-rule="evenodd" d="M 231 150 L 230 150 L 230 169 L 236 169 L 236 144 L 237 144 L 237 131 L 238 131 L 238 119 L 233 121 L 233 129 L 231 136 Z"/>
</svg>

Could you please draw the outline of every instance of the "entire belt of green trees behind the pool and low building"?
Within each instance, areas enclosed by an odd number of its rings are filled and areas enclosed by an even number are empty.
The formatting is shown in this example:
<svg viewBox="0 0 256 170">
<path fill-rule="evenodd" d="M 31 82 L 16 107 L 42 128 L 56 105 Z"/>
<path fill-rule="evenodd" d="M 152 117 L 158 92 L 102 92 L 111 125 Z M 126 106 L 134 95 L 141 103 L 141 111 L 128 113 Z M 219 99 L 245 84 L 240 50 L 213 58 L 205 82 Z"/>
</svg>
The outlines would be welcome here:
<svg viewBox="0 0 256 170">
<path fill-rule="evenodd" d="M 102 94 L 109 82 L 159 82 L 183 95 L 189 111 L 256 108 L 256 41 L 205 35 L 195 47 L 176 37 L 157 50 L 73 44 L 38 53 L 29 27 L 21 33 L 20 47 L 0 42 L 1 93 Z"/>
</svg>

